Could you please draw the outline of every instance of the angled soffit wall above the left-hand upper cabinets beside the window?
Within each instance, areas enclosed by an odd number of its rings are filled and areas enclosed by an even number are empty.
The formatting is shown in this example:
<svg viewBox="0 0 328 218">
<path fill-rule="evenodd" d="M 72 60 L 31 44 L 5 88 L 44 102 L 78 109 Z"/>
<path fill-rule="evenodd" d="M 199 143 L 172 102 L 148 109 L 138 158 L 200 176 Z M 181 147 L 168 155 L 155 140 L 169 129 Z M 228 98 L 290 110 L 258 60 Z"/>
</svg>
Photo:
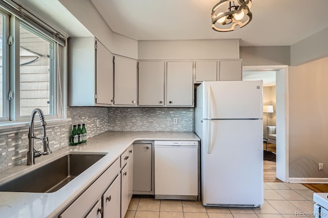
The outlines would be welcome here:
<svg viewBox="0 0 328 218">
<path fill-rule="evenodd" d="M 59 0 L 59 2 L 103 43 L 111 53 L 138 59 L 137 41 L 112 33 L 88 0 Z"/>
</svg>

